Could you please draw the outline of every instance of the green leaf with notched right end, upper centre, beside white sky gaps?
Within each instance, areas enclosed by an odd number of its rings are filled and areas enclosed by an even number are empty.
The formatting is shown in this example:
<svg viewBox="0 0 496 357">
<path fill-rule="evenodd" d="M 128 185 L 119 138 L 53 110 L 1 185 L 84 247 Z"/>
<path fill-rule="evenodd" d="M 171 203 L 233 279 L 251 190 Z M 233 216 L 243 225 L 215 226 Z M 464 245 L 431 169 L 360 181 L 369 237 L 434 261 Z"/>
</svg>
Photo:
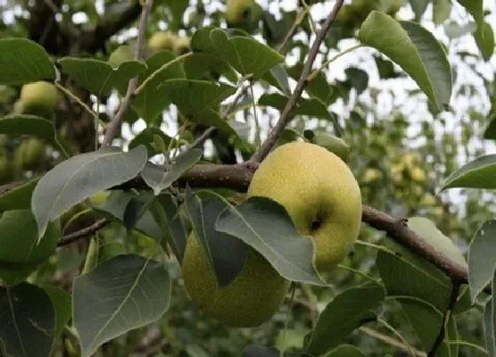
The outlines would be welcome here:
<svg viewBox="0 0 496 357">
<path fill-rule="evenodd" d="M 188 120 L 236 135 L 236 131 L 215 110 L 236 92 L 235 87 L 213 81 L 175 79 L 164 81 L 159 90 Z"/>
</svg>

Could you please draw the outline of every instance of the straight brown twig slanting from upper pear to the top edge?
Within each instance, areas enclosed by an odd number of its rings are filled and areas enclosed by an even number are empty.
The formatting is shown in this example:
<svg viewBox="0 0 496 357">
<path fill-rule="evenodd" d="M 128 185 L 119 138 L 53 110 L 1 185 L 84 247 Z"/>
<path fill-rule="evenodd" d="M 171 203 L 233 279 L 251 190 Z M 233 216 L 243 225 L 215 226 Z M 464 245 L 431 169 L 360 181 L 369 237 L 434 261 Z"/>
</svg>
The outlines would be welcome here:
<svg viewBox="0 0 496 357">
<path fill-rule="evenodd" d="M 294 109 L 298 104 L 298 99 L 301 97 L 301 94 L 303 93 L 303 90 L 306 87 L 308 75 L 312 70 L 312 66 L 314 66 L 314 61 L 315 58 L 317 58 L 317 54 L 319 53 L 319 47 L 321 47 L 321 44 L 325 36 L 327 35 L 327 32 L 329 31 L 329 27 L 336 18 L 337 12 L 339 11 L 343 3 L 344 0 L 337 0 L 336 4 L 334 4 L 332 10 L 330 11 L 327 19 L 325 19 L 322 28 L 315 37 L 315 41 L 312 44 L 312 48 L 308 52 L 308 58 L 306 59 L 306 64 L 303 67 L 303 70 L 301 71 L 301 75 L 299 76 L 298 83 L 296 85 L 296 88 L 294 89 L 293 94 L 290 97 L 290 100 L 288 100 L 288 103 L 284 107 L 283 113 L 281 113 L 281 117 L 279 118 L 279 120 L 277 120 L 277 123 L 275 124 L 275 128 L 272 129 L 272 131 L 267 136 L 267 139 L 264 142 L 264 144 L 262 144 L 260 151 L 255 152 L 255 154 L 252 156 L 252 159 L 250 159 L 251 161 L 261 162 L 263 159 L 265 159 L 267 154 L 274 147 L 279 137 L 283 134 L 284 128 L 286 128 L 288 123 L 294 117 Z"/>
</svg>

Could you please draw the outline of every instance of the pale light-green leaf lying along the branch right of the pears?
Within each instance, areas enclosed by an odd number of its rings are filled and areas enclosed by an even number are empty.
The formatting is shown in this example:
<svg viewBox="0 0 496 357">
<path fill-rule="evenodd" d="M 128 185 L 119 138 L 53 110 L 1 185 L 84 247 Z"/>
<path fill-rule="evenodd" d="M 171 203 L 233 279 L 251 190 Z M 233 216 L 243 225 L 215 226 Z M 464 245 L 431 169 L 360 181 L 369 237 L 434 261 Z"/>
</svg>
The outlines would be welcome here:
<svg viewBox="0 0 496 357">
<path fill-rule="evenodd" d="M 463 258 L 460 249 L 436 227 L 433 221 L 422 217 L 409 217 L 407 224 L 436 251 L 443 253 L 446 258 L 456 261 L 461 267 L 468 268 L 467 261 Z"/>
</svg>

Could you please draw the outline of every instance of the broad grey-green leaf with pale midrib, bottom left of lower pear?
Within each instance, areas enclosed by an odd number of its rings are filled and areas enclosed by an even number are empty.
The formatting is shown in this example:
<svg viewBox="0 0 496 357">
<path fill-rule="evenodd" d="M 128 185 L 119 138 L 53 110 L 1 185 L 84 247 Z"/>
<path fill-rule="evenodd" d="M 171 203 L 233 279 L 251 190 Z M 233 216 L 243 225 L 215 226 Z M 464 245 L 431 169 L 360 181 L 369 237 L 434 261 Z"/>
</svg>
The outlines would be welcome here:
<svg viewBox="0 0 496 357">
<path fill-rule="evenodd" d="M 73 321 L 82 356 L 89 357 L 106 341 L 157 321 L 167 311 L 170 296 L 167 268 L 138 255 L 116 256 L 77 277 Z"/>
</svg>

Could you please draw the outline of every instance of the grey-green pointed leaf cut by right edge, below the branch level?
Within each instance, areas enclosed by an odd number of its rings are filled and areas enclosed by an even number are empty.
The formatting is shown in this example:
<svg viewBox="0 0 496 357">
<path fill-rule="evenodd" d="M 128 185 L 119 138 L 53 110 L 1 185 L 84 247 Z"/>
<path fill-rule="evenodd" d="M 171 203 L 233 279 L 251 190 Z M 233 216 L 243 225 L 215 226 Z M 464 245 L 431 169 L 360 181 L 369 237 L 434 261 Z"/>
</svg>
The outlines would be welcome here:
<svg viewBox="0 0 496 357">
<path fill-rule="evenodd" d="M 496 270 L 496 221 L 484 221 L 469 245 L 470 298 L 475 302 Z"/>
</svg>

